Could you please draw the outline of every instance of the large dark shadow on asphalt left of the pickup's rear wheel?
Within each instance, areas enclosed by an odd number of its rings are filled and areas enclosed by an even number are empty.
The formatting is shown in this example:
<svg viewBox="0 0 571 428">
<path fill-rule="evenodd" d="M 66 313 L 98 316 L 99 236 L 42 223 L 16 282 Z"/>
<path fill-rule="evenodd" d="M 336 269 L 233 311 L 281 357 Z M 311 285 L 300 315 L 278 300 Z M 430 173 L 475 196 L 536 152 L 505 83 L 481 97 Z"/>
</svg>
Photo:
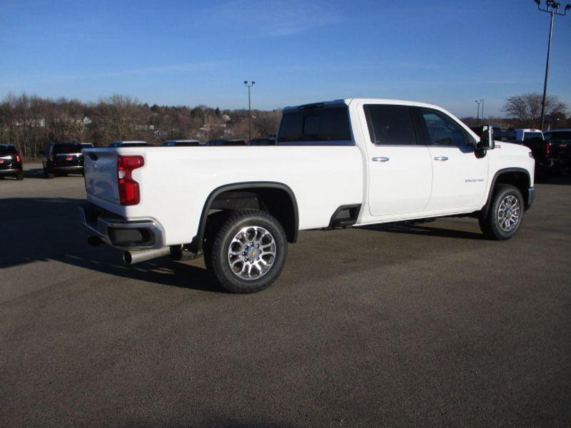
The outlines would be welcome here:
<svg viewBox="0 0 571 428">
<path fill-rule="evenodd" d="M 201 267 L 170 258 L 127 266 L 121 251 L 87 244 L 79 217 L 81 203 L 84 200 L 73 198 L 0 198 L 0 269 L 54 260 L 131 280 L 225 292 Z"/>
</svg>

